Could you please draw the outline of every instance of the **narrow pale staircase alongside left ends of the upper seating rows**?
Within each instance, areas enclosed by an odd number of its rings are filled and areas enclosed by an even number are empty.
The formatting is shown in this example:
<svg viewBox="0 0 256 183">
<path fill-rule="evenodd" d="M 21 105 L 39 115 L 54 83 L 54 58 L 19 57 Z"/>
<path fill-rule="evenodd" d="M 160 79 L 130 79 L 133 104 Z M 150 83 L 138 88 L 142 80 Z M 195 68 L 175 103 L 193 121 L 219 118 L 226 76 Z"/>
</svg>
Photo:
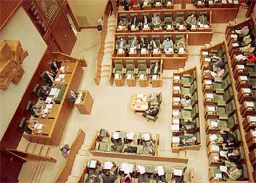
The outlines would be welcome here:
<svg viewBox="0 0 256 183">
<path fill-rule="evenodd" d="M 116 31 L 116 19 L 114 15 L 108 17 L 108 28 L 105 38 L 104 54 L 101 62 L 101 78 L 108 79 L 111 74 L 111 54 L 114 46 L 114 32 Z"/>
</svg>

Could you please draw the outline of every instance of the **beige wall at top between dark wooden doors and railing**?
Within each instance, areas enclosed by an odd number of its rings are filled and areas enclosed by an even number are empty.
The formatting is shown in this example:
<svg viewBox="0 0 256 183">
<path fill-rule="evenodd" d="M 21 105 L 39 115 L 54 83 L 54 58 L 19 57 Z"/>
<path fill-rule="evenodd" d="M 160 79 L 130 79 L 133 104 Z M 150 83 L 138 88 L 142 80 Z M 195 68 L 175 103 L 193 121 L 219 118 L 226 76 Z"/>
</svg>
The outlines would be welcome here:
<svg viewBox="0 0 256 183">
<path fill-rule="evenodd" d="M 68 0 L 79 26 L 96 26 L 108 0 Z"/>
</svg>

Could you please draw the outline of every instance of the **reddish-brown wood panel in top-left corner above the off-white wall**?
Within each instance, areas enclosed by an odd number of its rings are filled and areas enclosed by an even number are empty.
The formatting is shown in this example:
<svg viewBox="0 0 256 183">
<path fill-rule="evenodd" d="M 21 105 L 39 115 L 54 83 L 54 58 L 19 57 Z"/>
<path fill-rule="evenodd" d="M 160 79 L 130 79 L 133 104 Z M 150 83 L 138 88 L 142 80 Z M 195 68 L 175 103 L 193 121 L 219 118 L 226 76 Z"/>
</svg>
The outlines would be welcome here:
<svg viewBox="0 0 256 183">
<path fill-rule="evenodd" d="M 7 22 L 19 9 L 23 0 L 1 1 L 0 2 L 0 30 L 4 28 Z"/>
</svg>

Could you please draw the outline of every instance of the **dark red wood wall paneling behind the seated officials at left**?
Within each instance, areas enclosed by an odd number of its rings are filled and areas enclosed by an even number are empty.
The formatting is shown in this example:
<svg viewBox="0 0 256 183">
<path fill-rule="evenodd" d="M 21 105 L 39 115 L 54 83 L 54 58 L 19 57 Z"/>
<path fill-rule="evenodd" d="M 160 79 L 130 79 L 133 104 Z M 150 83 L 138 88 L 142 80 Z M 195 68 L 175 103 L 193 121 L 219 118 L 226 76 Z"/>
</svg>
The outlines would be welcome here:
<svg viewBox="0 0 256 183">
<path fill-rule="evenodd" d="M 27 103 L 30 100 L 32 100 L 33 102 L 36 102 L 38 100 L 38 97 L 33 93 L 33 88 L 37 83 L 39 83 L 40 85 L 45 84 L 45 82 L 43 82 L 43 80 L 41 79 L 40 74 L 44 70 L 50 69 L 48 62 L 52 59 L 53 56 L 51 55 L 49 49 L 46 49 L 45 54 L 43 55 L 35 73 L 33 74 L 33 77 L 30 80 L 30 84 L 28 85 L 27 90 L 22 96 L 22 100 L 20 101 L 19 106 L 17 106 L 14 116 L 12 117 L 9 126 L 7 127 L 6 132 L 1 139 L 0 146 L 2 148 L 15 149 L 19 145 L 20 138 L 23 134 L 23 130 L 20 129 L 19 123 L 22 117 L 30 117 L 30 114 L 28 114 L 28 112 L 25 110 Z"/>
</svg>

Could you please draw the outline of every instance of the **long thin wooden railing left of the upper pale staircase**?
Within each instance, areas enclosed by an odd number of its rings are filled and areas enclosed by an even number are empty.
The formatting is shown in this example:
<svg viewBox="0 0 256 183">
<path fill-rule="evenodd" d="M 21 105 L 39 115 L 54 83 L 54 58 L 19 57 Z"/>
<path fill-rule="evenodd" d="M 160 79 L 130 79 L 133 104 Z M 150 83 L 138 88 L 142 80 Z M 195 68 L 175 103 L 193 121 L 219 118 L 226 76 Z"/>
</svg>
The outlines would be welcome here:
<svg viewBox="0 0 256 183">
<path fill-rule="evenodd" d="M 100 85 L 100 79 L 101 79 L 101 63 L 104 55 L 104 48 L 105 48 L 105 39 L 108 29 L 108 17 L 109 17 L 109 3 L 111 1 L 109 0 L 105 7 L 105 12 L 103 15 L 103 26 L 100 33 L 100 48 L 98 51 L 98 56 L 96 58 L 96 68 L 95 68 L 95 74 L 94 74 L 94 80 L 96 82 L 96 85 Z"/>
</svg>

